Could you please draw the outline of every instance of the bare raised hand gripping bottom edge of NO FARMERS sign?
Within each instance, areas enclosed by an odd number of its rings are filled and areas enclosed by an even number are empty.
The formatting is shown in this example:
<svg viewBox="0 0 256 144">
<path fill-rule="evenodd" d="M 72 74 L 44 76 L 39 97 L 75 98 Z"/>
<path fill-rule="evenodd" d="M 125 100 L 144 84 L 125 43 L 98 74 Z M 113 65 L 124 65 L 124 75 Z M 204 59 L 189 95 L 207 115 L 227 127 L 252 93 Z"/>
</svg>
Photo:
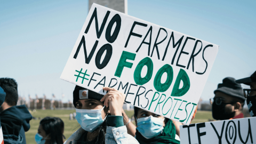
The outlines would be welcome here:
<svg viewBox="0 0 256 144">
<path fill-rule="evenodd" d="M 111 87 L 103 87 L 102 89 L 109 91 L 100 101 L 105 101 L 104 105 L 109 107 L 111 116 L 122 116 L 125 95 Z"/>
</svg>

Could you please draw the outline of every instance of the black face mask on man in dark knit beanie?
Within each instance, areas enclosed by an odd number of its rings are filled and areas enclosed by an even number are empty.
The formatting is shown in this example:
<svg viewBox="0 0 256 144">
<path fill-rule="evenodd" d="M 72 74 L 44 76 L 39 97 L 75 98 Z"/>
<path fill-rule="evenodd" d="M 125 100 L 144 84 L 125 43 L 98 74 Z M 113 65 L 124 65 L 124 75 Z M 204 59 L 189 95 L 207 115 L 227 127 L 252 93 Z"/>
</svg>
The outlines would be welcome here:
<svg viewBox="0 0 256 144">
<path fill-rule="evenodd" d="M 217 120 L 226 120 L 235 116 L 235 111 L 231 114 L 227 114 L 225 106 L 230 103 L 221 103 L 217 105 L 215 102 L 212 103 L 212 117 Z"/>
</svg>

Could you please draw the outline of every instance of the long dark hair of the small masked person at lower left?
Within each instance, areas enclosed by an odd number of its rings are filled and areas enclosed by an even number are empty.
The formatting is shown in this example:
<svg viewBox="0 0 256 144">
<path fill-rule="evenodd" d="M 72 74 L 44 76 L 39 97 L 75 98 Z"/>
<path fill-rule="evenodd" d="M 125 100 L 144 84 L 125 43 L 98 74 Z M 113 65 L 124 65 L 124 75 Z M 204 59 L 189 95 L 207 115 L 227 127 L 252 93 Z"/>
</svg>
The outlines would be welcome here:
<svg viewBox="0 0 256 144">
<path fill-rule="evenodd" d="M 59 117 L 45 117 L 40 121 L 40 124 L 42 125 L 46 135 L 50 134 L 51 144 L 63 143 L 62 130 L 64 129 L 64 123 Z"/>
</svg>

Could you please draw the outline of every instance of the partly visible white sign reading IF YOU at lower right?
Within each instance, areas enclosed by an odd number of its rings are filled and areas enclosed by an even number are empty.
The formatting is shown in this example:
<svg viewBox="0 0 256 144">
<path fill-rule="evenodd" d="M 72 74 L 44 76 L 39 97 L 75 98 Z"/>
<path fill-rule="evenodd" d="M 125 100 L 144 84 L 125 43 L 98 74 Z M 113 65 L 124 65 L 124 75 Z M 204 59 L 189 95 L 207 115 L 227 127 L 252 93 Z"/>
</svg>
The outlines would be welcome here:
<svg viewBox="0 0 256 144">
<path fill-rule="evenodd" d="M 181 144 L 255 143 L 256 117 L 180 126 Z"/>
</svg>

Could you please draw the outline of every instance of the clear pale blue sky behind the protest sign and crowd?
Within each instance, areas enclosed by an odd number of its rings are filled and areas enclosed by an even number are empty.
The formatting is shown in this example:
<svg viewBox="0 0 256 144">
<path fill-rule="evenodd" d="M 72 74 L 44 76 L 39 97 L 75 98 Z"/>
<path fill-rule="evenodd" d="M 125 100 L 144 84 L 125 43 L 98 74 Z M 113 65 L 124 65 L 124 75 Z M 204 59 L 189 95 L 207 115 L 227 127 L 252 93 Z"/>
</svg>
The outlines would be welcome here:
<svg viewBox="0 0 256 144">
<path fill-rule="evenodd" d="M 88 13 L 88 1 L 0 1 L 0 77 L 18 82 L 28 99 L 73 100 L 75 85 L 59 77 Z M 250 76 L 256 70 L 256 1 L 128 0 L 128 14 L 220 45 L 201 95 L 225 77 Z M 245 88 L 246 86 L 243 85 Z"/>
</svg>

